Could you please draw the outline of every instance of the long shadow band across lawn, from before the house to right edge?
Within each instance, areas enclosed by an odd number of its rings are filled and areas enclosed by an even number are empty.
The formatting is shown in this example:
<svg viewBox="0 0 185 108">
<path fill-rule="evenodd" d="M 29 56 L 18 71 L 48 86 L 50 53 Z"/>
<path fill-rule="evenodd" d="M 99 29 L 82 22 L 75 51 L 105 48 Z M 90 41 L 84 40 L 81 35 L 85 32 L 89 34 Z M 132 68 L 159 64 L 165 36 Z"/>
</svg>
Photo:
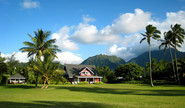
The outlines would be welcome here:
<svg viewBox="0 0 185 108">
<path fill-rule="evenodd" d="M 125 95 L 149 95 L 149 96 L 185 96 L 185 90 L 158 90 L 158 89 L 137 89 L 137 88 L 100 88 L 82 86 L 58 86 L 56 89 L 67 89 L 76 92 L 90 92 L 100 94 L 125 94 Z"/>
</svg>

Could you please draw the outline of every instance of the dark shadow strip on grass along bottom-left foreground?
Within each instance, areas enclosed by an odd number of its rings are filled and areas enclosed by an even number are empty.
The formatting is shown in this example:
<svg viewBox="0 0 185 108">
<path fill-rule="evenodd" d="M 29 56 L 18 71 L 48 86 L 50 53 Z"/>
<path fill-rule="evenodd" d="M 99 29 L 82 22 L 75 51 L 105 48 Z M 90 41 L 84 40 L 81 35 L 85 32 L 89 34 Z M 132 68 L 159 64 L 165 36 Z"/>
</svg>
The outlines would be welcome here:
<svg viewBox="0 0 185 108">
<path fill-rule="evenodd" d="M 0 108 L 107 108 L 113 105 L 93 102 L 34 101 L 34 103 L 0 102 Z"/>
</svg>

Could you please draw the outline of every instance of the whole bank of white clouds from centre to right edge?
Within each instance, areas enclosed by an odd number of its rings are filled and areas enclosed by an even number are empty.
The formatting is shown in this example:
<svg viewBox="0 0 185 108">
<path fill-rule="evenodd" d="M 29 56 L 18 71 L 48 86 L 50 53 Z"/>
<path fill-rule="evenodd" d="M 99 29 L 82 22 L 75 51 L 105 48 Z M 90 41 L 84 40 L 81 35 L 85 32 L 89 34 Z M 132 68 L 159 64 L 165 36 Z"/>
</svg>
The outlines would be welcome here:
<svg viewBox="0 0 185 108">
<path fill-rule="evenodd" d="M 67 45 L 58 44 L 59 46 L 61 45 L 61 48 L 65 46 L 65 49 L 71 45 L 77 50 L 77 43 L 106 44 L 108 46 L 111 45 L 106 51 L 107 55 L 116 55 L 126 61 L 148 51 L 148 43 L 146 41 L 140 44 L 140 40 L 143 36 L 139 33 L 145 32 L 145 27 L 148 24 L 156 26 L 157 29 L 161 31 L 162 38 L 164 31 L 170 30 L 171 24 L 179 23 L 185 28 L 185 11 L 167 12 L 166 19 L 159 22 L 151 19 L 151 13 L 144 12 L 141 9 L 135 9 L 135 13 L 121 14 L 117 19 L 113 20 L 112 25 L 107 25 L 101 30 L 98 30 L 95 25 L 89 24 L 89 22 L 95 21 L 94 18 L 87 15 L 82 16 L 82 19 L 83 22 L 76 26 L 72 35 L 69 35 L 70 30 L 66 29 L 54 36 L 63 43 L 69 41 Z M 62 32 L 64 34 L 60 34 Z M 152 39 L 151 44 L 152 50 L 158 50 L 158 46 L 160 45 L 159 41 Z M 71 46 L 68 49 L 72 50 Z M 182 45 L 181 50 L 185 51 L 185 44 Z"/>
</svg>

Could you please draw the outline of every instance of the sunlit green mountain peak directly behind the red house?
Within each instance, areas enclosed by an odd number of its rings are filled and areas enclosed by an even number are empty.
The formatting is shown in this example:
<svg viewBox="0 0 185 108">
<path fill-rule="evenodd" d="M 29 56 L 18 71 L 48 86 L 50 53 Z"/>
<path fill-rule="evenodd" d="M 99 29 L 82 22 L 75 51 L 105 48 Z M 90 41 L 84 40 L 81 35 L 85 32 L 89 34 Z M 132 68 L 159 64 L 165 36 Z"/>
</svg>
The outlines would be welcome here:
<svg viewBox="0 0 185 108">
<path fill-rule="evenodd" d="M 96 55 L 89 57 L 84 60 L 81 64 L 83 65 L 95 65 L 95 66 L 108 66 L 111 70 L 114 70 L 120 64 L 125 64 L 125 60 L 118 58 L 117 56 L 108 56 L 108 55 Z"/>
</svg>

